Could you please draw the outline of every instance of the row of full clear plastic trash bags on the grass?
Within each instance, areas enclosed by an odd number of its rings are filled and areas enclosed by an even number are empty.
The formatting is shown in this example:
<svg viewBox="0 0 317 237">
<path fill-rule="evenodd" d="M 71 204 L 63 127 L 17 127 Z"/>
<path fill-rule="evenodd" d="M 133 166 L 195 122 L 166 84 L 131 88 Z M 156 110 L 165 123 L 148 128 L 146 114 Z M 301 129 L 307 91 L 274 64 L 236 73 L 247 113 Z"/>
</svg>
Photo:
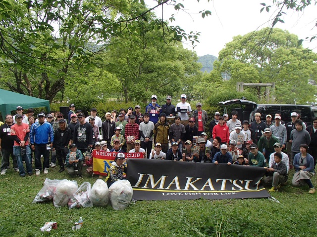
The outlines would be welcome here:
<svg viewBox="0 0 317 237">
<path fill-rule="evenodd" d="M 131 203 L 133 189 L 128 180 L 118 180 L 108 188 L 106 182 L 97 179 L 93 187 L 84 182 L 78 187 L 76 181 L 46 178 L 43 188 L 32 203 L 52 202 L 56 208 L 68 205 L 69 209 L 106 206 L 123 210 Z"/>
</svg>

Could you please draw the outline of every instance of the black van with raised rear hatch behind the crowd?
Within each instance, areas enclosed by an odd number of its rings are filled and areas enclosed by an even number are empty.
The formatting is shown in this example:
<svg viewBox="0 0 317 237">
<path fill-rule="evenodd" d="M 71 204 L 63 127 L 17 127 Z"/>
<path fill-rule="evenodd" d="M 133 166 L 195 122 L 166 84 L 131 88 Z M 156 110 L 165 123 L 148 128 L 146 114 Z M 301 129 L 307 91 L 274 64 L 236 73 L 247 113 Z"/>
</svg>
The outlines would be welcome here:
<svg viewBox="0 0 317 237">
<path fill-rule="evenodd" d="M 238 118 L 242 120 L 253 121 L 254 114 L 260 113 L 261 119 L 265 121 L 266 115 L 271 115 L 274 119 L 274 115 L 280 112 L 282 120 L 285 123 L 291 121 L 291 113 L 296 112 L 301 115 L 301 119 L 306 122 L 307 125 L 312 124 L 314 117 L 317 117 L 317 106 L 312 105 L 282 105 L 282 104 L 257 104 L 253 101 L 235 99 L 221 101 L 217 105 L 228 106 L 232 104 L 240 105 L 240 108 L 234 108 L 238 112 Z M 229 117 L 230 117 L 230 113 Z M 242 119 L 241 119 L 242 118 Z"/>
</svg>

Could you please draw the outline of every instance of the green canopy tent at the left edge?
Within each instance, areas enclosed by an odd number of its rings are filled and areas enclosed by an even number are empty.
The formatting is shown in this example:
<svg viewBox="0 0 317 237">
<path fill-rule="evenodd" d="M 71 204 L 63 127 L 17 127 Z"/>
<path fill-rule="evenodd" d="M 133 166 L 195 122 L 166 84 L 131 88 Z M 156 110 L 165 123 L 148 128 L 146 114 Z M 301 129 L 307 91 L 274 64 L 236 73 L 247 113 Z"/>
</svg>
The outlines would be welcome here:
<svg viewBox="0 0 317 237">
<path fill-rule="evenodd" d="M 12 110 L 15 111 L 17 106 L 22 106 L 23 109 L 45 107 L 48 112 L 50 111 L 50 101 L 48 100 L 0 89 L 0 112 L 2 118 L 10 114 Z"/>
</svg>

